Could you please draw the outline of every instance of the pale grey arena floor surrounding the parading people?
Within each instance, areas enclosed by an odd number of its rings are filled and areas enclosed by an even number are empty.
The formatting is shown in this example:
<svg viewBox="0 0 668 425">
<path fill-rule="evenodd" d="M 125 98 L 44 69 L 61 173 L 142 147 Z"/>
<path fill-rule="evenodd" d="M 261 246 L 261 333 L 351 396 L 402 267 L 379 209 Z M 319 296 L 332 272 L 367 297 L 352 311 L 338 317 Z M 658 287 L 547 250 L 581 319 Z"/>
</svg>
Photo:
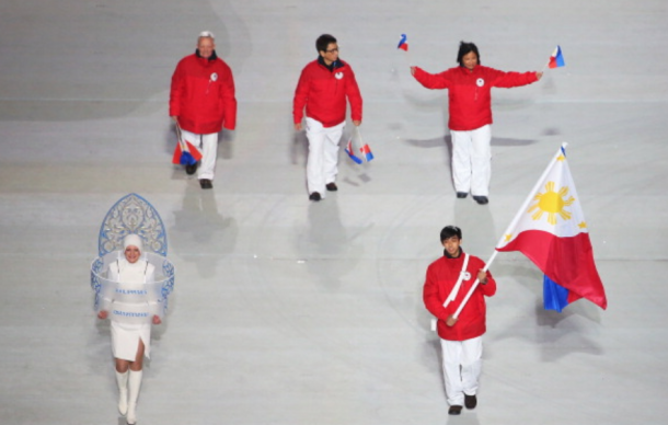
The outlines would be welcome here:
<svg viewBox="0 0 668 425">
<path fill-rule="evenodd" d="M 668 398 L 668 3 L 60 0 L 0 4 L 0 422 L 117 424 L 108 325 L 89 266 L 136 192 L 168 228 L 176 290 L 154 331 L 141 424 L 664 424 Z M 171 165 L 166 101 L 201 30 L 238 88 L 215 189 Z M 333 33 L 376 160 L 342 157 L 309 204 L 291 96 Z M 396 50 L 408 34 L 411 57 Z M 491 204 L 456 200 L 444 91 L 408 61 L 565 68 L 494 92 Z M 542 275 L 499 254 L 480 406 L 447 416 L 421 299 L 438 232 L 487 259 L 562 141 L 609 308 L 541 307 Z"/>
</svg>

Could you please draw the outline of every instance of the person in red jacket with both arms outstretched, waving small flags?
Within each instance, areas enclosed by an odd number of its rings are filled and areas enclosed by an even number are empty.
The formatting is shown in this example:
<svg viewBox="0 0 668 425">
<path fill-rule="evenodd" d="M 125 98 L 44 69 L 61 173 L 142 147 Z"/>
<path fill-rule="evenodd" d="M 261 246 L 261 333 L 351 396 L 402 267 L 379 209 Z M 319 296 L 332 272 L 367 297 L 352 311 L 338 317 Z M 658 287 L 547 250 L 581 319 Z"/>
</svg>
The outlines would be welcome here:
<svg viewBox="0 0 668 425">
<path fill-rule="evenodd" d="M 452 180 L 458 198 L 469 192 L 481 205 L 488 203 L 492 176 L 492 88 L 531 84 L 542 72 L 504 72 L 480 65 L 473 43 L 461 42 L 457 55 L 459 67 L 440 73 L 428 73 L 411 67 L 411 73 L 427 89 L 448 89 L 452 136 Z"/>
</svg>

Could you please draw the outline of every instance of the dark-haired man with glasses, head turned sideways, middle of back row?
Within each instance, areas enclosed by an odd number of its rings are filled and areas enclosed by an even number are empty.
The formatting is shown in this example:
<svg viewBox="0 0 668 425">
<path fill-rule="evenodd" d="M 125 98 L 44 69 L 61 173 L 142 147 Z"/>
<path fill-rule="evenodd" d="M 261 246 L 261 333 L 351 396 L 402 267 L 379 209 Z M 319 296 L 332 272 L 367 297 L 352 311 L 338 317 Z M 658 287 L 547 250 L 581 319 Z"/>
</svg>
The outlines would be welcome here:
<svg viewBox="0 0 668 425">
<path fill-rule="evenodd" d="M 307 110 L 307 186 L 309 199 L 325 197 L 325 189 L 337 191 L 338 142 L 346 124 L 346 100 L 350 103 L 355 126 L 361 124 L 361 94 L 353 68 L 338 58 L 336 38 L 323 34 L 315 41 L 316 60 L 301 71 L 292 115 L 295 129 L 302 129 L 304 107 Z"/>
</svg>

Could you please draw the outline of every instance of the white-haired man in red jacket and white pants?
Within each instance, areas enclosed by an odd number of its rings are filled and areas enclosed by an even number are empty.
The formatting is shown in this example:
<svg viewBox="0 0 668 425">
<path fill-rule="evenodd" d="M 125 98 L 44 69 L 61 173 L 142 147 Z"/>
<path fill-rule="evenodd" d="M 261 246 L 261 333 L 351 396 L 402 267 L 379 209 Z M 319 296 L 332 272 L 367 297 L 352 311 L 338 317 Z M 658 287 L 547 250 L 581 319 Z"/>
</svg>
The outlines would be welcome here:
<svg viewBox="0 0 668 425">
<path fill-rule="evenodd" d="M 197 38 L 194 55 L 181 59 L 172 76 L 170 116 L 181 127 L 183 138 L 201 147 L 197 179 L 201 188 L 212 188 L 218 134 L 237 125 L 234 79 L 230 67 L 216 56 L 214 34 L 205 31 Z M 197 164 L 186 165 L 194 174 Z"/>
</svg>

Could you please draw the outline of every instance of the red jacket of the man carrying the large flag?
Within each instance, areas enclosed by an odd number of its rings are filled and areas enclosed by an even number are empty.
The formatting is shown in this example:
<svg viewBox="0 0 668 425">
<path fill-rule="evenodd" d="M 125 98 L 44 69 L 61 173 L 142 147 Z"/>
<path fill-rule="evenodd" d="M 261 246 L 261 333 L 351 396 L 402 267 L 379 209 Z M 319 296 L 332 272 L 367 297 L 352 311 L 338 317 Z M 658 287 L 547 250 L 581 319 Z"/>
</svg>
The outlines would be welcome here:
<svg viewBox="0 0 668 425">
<path fill-rule="evenodd" d="M 477 277 L 477 272 L 485 266 L 485 263 L 476 256 L 469 256 L 469 279 L 462 280 L 461 287 L 457 292 L 454 301 L 444 308 L 444 301 L 452 291 L 462 265 L 464 263 L 463 253 L 457 259 L 442 256 L 436 260 L 427 268 L 427 277 L 423 289 L 425 307 L 438 319 L 438 336 L 449 341 L 465 341 L 480 336 L 485 333 L 485 296 L 492 297 L 496 292 L 496 282 L 492 274 L 487 272 L 487 284 L 480 284 L 473 295 L 459 314 L 459 321 L 453 326 L 448 326 L 446 320 L 454 314 L 461 301 L 464 299 L 469 289 Z"/>
</svg>

